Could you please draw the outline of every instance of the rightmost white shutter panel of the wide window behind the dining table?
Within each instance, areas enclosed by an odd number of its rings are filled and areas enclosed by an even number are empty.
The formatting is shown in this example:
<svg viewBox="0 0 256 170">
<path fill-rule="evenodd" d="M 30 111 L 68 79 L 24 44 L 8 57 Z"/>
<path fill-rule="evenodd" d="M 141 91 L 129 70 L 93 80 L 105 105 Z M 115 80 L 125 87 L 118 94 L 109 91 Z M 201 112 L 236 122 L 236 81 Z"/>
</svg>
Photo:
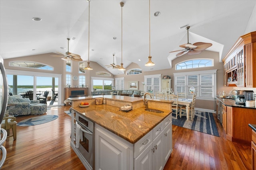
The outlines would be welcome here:
<svg viewBox="0 0 256 170">
<path fill-rule="evenodd" d="M 214 97 L 214 75 L 208 74 L 208 75 L 200 75 L 200 93 L 201 97 Z"/>
</svg>

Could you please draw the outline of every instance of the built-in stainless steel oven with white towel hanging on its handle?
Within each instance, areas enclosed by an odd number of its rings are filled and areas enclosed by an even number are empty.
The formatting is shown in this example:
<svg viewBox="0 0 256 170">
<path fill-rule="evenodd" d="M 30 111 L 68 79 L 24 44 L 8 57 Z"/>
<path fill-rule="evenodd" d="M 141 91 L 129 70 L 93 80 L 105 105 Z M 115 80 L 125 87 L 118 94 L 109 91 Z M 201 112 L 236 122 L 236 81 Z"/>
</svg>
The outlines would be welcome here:
<svg viewBox="0 0 256 170">
<path fill-rule="evenodd" d="M 94 169 L 94 123 L 76 113 L 76 150 Z M 81 160 L 82 161 L 82 160 Z M 83 161 L 82 161 L 83 162 Z M 86 168 L 87 169 L 87 168 Z"/>
</svg>

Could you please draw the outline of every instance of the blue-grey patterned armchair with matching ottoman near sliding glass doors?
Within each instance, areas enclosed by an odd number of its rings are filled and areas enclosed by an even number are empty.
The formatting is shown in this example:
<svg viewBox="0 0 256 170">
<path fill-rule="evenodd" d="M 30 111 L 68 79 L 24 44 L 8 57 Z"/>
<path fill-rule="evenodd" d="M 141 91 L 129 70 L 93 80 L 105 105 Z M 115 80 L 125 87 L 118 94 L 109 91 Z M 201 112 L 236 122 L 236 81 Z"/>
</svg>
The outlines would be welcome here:
<svg viewBox="0 0 256 170">
<path fill-rule="evenodd" d="M 9 115 L 40 115 L 46 111 L 47 105 L 40 104 L 39 100 L 29 100 L 29 98 L 22 98 L 21 95 L 8 97 L 6 112 Z"/>
</svg>

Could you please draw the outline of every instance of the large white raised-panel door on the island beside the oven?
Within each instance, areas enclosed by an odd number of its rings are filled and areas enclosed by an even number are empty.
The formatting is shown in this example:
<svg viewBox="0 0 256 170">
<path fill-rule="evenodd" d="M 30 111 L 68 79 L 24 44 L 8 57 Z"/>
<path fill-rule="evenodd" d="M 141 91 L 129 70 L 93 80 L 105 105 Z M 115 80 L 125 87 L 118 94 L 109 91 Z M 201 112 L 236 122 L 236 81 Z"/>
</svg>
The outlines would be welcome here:
<svg viewBox="0 0 256 170">
<path fill-rule="evenodd" d="M 133 146 L 114 133 L 95 125 L 95 169 L 130 170 Z"/>
</svg>

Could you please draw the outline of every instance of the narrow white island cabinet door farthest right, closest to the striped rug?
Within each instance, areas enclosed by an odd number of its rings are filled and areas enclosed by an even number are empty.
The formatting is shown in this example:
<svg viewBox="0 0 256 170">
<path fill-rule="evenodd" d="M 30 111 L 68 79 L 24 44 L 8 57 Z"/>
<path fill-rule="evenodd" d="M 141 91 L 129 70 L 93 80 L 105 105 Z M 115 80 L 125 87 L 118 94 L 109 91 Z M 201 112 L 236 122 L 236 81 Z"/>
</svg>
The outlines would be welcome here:
<svg viewBox="0 0 256 170">
<path fill-rule="evenodd" d="M 169 159 L 172 153 L 172 123 L 170 123 L 163 132 L 163 156 L 164 156 L 164 165 Z"/>
</svg>

